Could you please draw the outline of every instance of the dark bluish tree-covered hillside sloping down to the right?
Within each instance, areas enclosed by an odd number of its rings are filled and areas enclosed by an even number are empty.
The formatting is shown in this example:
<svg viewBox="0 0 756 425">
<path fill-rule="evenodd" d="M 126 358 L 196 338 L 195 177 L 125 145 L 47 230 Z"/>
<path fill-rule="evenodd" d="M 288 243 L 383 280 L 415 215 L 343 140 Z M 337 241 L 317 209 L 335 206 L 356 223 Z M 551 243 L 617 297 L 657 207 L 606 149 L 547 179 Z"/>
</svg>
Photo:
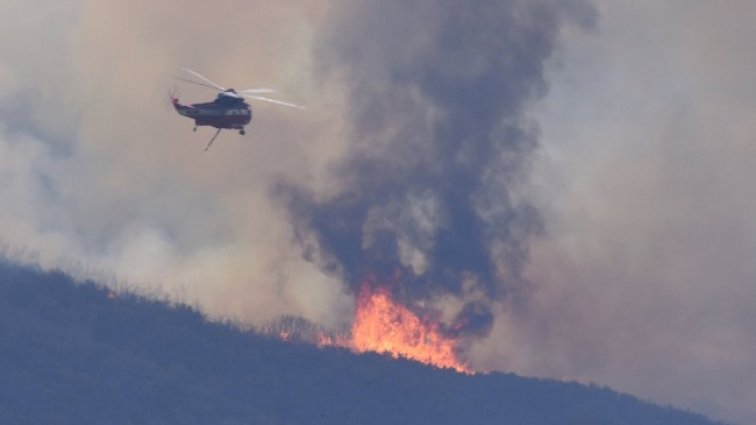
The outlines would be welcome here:
<svg viewBox="0 0 756 425">
<path fill-rule="evenodd" d="M 0 424 L 714 422 L 606 388 L 284 343 L 0 260 Z"/>
</svg>

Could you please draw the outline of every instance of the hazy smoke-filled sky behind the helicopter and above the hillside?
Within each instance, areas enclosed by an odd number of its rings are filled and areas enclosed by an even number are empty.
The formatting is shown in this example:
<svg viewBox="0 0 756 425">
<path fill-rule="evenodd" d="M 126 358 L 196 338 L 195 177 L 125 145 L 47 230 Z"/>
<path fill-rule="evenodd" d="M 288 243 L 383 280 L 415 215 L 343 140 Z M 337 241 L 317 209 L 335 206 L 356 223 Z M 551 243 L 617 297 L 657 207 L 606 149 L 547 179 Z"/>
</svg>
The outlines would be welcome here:
<svg viewBox="0 0 756 425">
<path fill-rule="evenodd" d="M 363 263 L 316 219 L 360 205 L 349 243 L 389 235 L 379 254 L 443 288 L 409 299 L 490 312 L 476 368 L 756 422 L 756 4 L 269 3 L 0 0 L 0 246 L 343 329 Z M 182 66 L 307 109 L 253 104 L 205 153 L 167 93 L 214 94 Z"/>
</svg>

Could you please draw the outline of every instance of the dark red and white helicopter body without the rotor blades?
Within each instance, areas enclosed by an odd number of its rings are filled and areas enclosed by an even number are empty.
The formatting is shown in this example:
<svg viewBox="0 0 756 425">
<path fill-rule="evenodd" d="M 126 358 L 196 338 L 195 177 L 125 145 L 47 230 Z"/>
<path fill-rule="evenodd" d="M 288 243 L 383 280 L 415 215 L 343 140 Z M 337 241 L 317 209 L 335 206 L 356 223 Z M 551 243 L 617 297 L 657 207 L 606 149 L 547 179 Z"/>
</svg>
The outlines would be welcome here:
<svg viewBox="0 0 756 425">
<path fill-rule="evenodd" d="M 244 126 L 252 121 L 252 108 L 233 93 L 221 92 L 212 102 L 192 105 L 182 105 L 177 98 L 172 101 L 176 112 L 193 119 L 196 127 L 209 126 L 243 132 Z"/>
</svg>

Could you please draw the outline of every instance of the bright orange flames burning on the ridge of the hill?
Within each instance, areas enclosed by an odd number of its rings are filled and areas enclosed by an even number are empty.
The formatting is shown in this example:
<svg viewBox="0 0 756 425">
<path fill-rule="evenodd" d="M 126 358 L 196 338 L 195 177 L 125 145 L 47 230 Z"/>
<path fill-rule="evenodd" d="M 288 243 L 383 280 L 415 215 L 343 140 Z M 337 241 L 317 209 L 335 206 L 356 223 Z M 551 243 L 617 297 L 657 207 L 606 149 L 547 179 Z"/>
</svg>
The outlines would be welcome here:
<svg viewBox="0 0 756 425">
<path fill-rule="evenodd" d="M 421 320 L 396 303 L 385 288 L 362 287 L 349 346 L 360 353 L 374 351 L 471 373 L 458 359 L 454 339 L 445 337 L 437 324 Z"/>
</svg>

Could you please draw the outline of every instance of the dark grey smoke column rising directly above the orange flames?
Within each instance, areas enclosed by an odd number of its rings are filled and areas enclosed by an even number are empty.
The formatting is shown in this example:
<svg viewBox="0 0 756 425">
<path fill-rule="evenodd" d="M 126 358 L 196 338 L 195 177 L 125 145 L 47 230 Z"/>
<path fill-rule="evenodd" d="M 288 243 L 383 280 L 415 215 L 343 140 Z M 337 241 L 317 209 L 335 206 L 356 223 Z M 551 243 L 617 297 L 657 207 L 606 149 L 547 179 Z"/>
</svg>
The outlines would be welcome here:
<svg viewBox="0 0 756 425">
<path fill-rule="evenodd" d="M 546 93 L 544 61 L 576 2 L 350 3 L 317 56 L 345 82 L 350 151 L 324 197 L 281 184 L 306 258 L 356 292 L 390 284 L 417 308 L 477 294 L 450 329 L 486 334 L 491 301 L 522 284 L 540 228 L 514 199 L 536 132 L 524 111 Z M 425 303 L 427 304 L 427 303 Z"/>
</svg>

